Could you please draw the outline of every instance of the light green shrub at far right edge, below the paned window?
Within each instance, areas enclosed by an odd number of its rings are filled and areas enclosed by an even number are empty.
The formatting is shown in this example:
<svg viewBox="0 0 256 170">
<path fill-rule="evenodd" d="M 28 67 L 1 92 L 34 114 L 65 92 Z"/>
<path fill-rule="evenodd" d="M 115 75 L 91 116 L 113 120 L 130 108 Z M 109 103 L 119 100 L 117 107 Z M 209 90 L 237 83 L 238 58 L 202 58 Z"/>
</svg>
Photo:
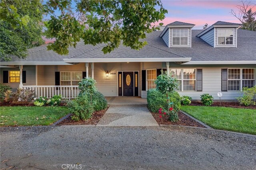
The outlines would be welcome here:
<svg viewBox="0 0 256 170">
<path fill-rule="evenodd" d="M 237 98 L 241 105 L 256 105 L 256 86 L 251 88 L 243 87 L 242 95 L 242 97 Z"/>
</svg>

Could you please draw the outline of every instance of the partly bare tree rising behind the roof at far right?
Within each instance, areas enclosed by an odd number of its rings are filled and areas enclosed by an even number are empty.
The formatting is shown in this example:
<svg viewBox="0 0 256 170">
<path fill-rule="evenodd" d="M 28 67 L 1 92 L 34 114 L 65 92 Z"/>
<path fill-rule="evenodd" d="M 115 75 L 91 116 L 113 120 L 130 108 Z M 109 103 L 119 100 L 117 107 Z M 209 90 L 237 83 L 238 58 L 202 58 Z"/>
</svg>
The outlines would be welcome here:
<svg viewBox="0 0 256 170">
<path fill-rule="evenodd" d="M 238 11 L 231 10 L 231 14 L 242 23 L 242 29 L 256 31 L 256 11 L 252 11 L 256 4 L 251 0 L 241 0 L 240 3 L 236 6 Z"/>
</svg>

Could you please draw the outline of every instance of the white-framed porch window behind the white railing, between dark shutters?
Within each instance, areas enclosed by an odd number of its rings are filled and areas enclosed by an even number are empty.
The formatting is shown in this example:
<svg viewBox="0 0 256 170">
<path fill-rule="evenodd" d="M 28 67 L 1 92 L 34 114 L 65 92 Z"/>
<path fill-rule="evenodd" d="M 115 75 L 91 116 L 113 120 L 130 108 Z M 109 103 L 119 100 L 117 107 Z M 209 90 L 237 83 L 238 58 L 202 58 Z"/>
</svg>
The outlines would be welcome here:
<svg viewBox="0 0 256 170">
<path fill-rule="evenodd" d="M 82 71 L 62 71 L 60 72 L 60 85 L 78 85 L 82 78 Z"/>
</svg>

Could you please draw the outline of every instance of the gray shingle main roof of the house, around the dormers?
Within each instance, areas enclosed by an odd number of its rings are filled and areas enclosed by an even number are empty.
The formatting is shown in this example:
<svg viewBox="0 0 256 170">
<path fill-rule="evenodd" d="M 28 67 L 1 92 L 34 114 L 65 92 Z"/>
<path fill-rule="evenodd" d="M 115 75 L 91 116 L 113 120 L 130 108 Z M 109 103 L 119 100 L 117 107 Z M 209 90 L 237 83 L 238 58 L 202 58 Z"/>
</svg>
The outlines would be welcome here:
<svg viewBox="0 0 256 170">
<path fill-rule="evenodd" d="M 58 55 L 47 51 L 46 45 L 28 49 L 26 59 L 13 58 L 13 61 L 45 61 L 63 62 L 68 58 L 147 58 L 147 57 L 192 57 L 191 61 L 256 61 L 256 32 L 238 29 L 238 44 L 236 47 L 212 47 L 201 38 L 196 37 L 203 30 L 192 30 L 191 48 L 169 48 L 159 37 L 160 31 L 146 34 L 148 45 L 140 50 L 120 45 L 111 53 L 104 54 L 101 50 L 104 44 L 84 45 L 78 42 L 76 48 L 70 47 L 68 55 Z"/>
</svg>

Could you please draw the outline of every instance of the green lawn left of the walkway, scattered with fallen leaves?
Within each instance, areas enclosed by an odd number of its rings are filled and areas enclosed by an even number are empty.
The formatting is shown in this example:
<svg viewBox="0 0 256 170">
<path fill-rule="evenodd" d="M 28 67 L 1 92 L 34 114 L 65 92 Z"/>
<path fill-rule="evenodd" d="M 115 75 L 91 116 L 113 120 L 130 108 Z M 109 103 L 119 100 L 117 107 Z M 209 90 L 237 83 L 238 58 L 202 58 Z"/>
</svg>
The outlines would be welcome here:
<svg viewBox="0 0 256 170">
<path fill-rule="evenodd" d="M 51 125 L 69 113 L 66 107 L 0 107 L 0 126 Z"/>
</svg>

